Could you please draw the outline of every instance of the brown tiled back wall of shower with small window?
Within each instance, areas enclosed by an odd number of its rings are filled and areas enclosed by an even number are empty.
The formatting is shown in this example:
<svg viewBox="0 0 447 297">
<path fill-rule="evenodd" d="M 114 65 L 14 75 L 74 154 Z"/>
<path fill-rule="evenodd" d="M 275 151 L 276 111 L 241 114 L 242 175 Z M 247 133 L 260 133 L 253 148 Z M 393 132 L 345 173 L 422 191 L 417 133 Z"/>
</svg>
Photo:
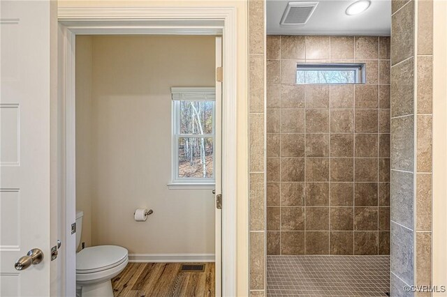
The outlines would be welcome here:
<svg viewBox="0 0 447 297">
<path fill-rule="evenodd" d="M 297 85 L 296 63 L 366 63 Z M 390 38 L 268 36 L 268 254 L 389 254 Z"/>
</svg>

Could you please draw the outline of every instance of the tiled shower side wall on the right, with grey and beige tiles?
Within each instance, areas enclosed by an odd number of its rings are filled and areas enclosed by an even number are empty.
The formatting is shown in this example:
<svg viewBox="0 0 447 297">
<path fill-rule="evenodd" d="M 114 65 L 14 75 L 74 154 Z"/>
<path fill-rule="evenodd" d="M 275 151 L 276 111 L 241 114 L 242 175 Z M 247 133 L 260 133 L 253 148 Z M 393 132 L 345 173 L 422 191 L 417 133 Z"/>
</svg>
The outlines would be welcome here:
<svg viewBox="0 0 447 297">
<path fill-rule="evenodd" d="M 392 3 L 390 287 L 413 296 L 432 280 L 433 2 Z"/>
</svg>

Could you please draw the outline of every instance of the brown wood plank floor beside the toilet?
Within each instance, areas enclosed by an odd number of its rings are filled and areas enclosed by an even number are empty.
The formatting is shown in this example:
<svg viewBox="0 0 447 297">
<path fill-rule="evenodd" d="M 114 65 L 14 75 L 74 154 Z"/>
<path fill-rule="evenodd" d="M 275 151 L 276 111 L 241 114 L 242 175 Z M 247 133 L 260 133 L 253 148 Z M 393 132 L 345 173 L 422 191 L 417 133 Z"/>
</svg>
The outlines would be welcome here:
<svg viewBox="0 0 447 297">
<path fill-rule="evenodd" d="M 181 272 L 182 263 L 129 263 L 112 278 L 117 296 L 214 296 L 214 263 L 203 272 Z"/>
</svg>

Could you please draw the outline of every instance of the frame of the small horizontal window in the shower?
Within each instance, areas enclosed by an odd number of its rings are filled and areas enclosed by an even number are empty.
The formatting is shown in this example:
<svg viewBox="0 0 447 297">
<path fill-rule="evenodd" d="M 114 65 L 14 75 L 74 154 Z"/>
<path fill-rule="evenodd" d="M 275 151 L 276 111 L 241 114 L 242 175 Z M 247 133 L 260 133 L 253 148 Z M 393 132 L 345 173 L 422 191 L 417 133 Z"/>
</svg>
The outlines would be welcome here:
<svg viewBox="0 0 447 297">
<path fill-rule="evenodd" d="M 331 83 L 299 83 L 298 70 L 356 70 L 356 82 Z M 295 71 L 295 84 L 365 84 L 365 63 L 297 63 Z"/>
</svg>

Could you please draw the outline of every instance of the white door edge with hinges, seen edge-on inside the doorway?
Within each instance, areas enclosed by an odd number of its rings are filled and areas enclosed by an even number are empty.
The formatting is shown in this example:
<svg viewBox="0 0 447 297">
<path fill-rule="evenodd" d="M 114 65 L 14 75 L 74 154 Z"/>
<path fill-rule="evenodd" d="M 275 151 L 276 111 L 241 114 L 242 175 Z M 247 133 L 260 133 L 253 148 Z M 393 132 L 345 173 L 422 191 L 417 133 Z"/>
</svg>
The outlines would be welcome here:
<svg viewBox="0 0 447 297">
<path fill-rule="evenodd" d="M 215 273 L 216 296 L 222 296 L 222 210 L 217 205 L 217 197 L 222 194 L 222 82 L 218 68 L 222 67 L 222 38 L 216 37 L 216 185 L 214 199 L 216 201 L 216 247 L 215 247 Z"/>
</svg>

